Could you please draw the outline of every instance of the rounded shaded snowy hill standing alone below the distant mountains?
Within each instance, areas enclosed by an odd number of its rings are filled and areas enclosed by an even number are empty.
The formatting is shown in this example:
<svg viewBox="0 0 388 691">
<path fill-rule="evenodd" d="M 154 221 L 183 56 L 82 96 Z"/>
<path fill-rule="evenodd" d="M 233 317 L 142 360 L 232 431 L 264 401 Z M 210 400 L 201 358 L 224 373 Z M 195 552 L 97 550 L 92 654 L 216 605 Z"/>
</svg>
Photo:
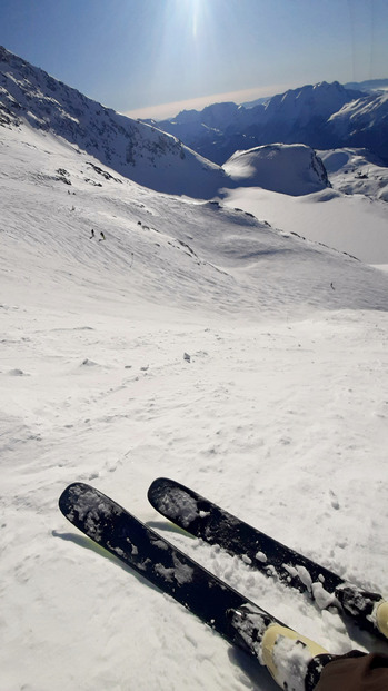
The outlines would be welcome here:
<svg viewBox="0 0 388 691">
<path fill-rule="evenodd" d="M 236 151 L 223 169 L 239 185 L 294 197 L 330 187 L 322 161 L 302 144 L 272 144 Z"/>
</svg>

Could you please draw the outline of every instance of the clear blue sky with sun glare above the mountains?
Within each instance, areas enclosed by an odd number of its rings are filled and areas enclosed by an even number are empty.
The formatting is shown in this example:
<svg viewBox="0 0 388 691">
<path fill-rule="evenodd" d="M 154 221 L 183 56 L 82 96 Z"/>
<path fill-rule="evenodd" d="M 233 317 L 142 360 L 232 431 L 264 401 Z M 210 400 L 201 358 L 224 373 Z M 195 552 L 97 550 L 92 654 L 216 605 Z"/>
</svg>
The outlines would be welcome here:
<svg viewBox="0 0 388 691">
<path fill-rule="evenodd" d="M 387 0 L 1 0 L 0 45 L 131 117 L 388 77 Z"/>
</svg>

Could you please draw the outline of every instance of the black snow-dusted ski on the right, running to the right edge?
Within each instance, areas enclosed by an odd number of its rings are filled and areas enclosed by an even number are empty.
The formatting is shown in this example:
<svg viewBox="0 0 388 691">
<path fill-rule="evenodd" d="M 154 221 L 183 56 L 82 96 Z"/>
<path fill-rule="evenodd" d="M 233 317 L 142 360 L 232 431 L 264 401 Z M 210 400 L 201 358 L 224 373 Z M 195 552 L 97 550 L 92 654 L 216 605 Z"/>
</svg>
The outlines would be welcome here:
<svg viewBox="0 0 388 691">
<path fill-rule="evenodd" d="M 359 628 L 388 638 L 388 603 L 380 594 L 344 581 L 173 480 L 155 480 L 148 498 L 159 513 L 191 535 L 221 546 L 300 592 L 307 591 L 319 609 L 335 605 Z"/>
</svg>

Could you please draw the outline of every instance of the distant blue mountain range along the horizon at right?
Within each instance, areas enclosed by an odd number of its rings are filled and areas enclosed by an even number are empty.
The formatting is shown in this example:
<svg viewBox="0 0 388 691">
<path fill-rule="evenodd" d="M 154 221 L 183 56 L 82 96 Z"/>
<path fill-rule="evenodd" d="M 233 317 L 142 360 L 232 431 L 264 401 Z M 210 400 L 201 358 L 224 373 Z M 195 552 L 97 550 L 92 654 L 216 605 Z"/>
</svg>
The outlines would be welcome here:
<svg viewBox="0 0 388 691">
<path fill-rule="evenodd" d="M 367 91 L 372 88 L 374 91 Z M 388 80 L 361 88 L 337 81 L 308 85 L 253 107 L 215 103 L 157 122 L 205 158 L 222 165 L 236 150 L 267 144 L 306 144 L 315 149 L 364 147 L 388 162 Z"/>
</svg>

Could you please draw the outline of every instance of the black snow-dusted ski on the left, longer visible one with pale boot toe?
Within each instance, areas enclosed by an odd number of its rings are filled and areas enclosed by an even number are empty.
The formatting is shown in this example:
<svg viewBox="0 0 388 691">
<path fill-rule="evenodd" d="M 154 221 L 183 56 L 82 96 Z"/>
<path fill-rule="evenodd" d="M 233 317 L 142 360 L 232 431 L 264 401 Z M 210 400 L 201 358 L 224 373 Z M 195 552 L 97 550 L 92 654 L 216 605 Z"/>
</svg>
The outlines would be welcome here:
<svg viewBox="0 0 388 691">
<path fill-rule="evenodd" d="M 332 659 L 320 645 L 285 626 L 94 487 L 69 485 L 59 507 L 97 544 L 265 664 L 281 688 L 312 691 Z"/>
</svg>

